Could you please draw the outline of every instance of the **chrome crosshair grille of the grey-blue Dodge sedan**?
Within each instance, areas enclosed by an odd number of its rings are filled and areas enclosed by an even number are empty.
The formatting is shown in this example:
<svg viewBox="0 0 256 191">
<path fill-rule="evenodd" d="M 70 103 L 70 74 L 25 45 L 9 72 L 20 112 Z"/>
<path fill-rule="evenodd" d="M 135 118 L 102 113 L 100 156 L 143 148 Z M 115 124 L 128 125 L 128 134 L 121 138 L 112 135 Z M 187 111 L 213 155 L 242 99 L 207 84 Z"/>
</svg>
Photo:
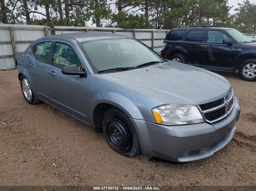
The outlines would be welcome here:
<svg viewBox="0 0 256 191">
<path fill-rule="evenodd" d="M 199 105 L 205 121 L 209 123 L 214 123 L 220 119 L 226 117 L 234 107 L 234 94 L 231 91 L 225 97 L 210 102 Z"/>
</svg>

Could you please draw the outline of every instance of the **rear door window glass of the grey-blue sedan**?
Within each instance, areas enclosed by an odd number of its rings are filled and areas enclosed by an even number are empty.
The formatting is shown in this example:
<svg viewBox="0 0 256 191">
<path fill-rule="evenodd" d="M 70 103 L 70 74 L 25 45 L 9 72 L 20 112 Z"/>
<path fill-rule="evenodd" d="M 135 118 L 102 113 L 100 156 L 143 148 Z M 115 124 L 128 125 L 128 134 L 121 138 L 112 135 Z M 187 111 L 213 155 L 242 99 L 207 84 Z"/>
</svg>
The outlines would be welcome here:
<svg viewBox="0 0 256 191">
<path fill-rule="evenodd" d="M 52 42 L 37 43 L 35 45 L 34 55 L 37 60 L 48 64 L 48 54 Z"/>
</svg>

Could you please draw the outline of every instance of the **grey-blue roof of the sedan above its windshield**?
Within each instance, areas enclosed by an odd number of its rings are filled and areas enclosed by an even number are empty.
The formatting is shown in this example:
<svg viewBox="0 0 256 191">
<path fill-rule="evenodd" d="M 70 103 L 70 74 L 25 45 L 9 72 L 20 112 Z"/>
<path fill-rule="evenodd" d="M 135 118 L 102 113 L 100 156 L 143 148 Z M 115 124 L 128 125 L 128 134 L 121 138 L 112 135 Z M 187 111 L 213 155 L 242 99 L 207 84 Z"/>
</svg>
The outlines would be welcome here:
<svg viewBox="0 0 256 191">
<path fill-rule="evenodd" d="M 112 39 L 112 38 L 132 38 L 122 34 L 115 33 L 102 33 L 102 32 L 89 32 L 89 33 L 64 33 L 52 35 L 49 37 L 44 37 L 44 39 L 65 39 L 70 38 L 76 40 L 77 42 L 84 42 L 90 40 L 101 40 L 101 39 Z"/>
</svg>

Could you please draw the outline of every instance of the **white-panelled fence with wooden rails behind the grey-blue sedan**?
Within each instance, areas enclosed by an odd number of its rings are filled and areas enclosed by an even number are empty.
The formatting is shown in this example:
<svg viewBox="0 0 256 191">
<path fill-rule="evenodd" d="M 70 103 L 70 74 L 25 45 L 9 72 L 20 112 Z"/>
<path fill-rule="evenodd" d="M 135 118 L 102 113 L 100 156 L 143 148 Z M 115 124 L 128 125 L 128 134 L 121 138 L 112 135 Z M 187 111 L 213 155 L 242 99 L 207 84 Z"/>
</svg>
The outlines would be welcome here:
<svg viewBox="0 0 256 191">
<path fill-rule="evenodd" d="M 64 27 L 49 28 L 39 25 L 0 24 L 0 70 L 16 68 L 15 54 L 24 51 L 34 40 L 60 33 L 104 32 L 118 33 L 134 37 L 160 52 L 169 30 L 123 29 L 105 27 Z"/>
</svg>

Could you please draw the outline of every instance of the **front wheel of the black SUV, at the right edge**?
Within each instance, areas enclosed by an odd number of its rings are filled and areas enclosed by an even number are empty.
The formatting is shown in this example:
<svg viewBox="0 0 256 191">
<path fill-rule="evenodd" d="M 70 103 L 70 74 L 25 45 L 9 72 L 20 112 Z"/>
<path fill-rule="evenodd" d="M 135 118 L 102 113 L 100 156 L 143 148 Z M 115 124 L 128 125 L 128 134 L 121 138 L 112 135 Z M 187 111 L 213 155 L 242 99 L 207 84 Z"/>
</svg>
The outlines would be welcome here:
<svg viewBox="0 0 256 191">
<path fill-rule="evenodd" d="M 238 68 L 238 72 L 242 78 L 248 81 L 256 80 L 256 60 L 245 60 Z"/>
</svg>

